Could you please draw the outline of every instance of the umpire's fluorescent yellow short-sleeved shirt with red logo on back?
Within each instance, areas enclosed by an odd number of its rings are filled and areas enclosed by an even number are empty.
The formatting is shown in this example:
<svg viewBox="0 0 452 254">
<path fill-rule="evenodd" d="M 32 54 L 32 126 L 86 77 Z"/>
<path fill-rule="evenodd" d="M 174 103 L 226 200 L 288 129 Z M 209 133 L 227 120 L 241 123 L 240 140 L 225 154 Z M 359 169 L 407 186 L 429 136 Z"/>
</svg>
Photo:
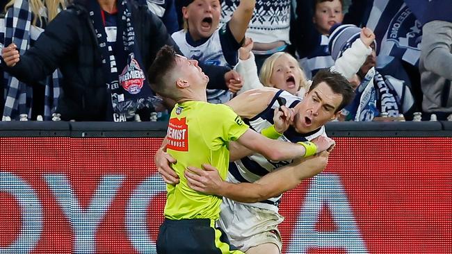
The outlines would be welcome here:
<svg viewBox="0 0 452 254">
<path fill-rule="evenodd" d="M 168 124 L 167 152 L 179 184 L 166 185 L 165 217 L 168 219 L 218 219 L 222 198 L 196 192 L 187 185 L 186 167 L 216 167 L 225 179 L 229 166 L 229 141 L 238 139 L 248 126 L 227 105 L 187 101 L 175 105 Z"/>
</svg>

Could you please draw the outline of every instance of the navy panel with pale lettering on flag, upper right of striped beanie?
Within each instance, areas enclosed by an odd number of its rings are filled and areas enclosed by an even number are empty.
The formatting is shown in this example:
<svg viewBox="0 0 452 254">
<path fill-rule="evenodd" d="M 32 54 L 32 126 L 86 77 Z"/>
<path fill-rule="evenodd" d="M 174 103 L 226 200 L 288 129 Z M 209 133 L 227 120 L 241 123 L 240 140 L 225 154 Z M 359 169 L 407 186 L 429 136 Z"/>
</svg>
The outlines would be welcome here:
<svg viewBox="0 0 452 254">
<path fill-rule="evenodd" d="M 387 32 L 387 40 L 395 42 L 399 48 L 421 49 L 422 25 L 411 10 L 405 6 L 392 19 Z"/>
</svg>

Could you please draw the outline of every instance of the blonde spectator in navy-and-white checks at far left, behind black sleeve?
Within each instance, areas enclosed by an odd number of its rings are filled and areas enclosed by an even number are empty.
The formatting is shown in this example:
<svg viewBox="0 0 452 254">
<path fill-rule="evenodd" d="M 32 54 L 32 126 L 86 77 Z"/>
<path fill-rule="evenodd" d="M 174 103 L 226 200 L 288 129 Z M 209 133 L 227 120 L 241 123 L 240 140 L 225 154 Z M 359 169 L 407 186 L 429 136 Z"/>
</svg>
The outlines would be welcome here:
<svg viewBox="0 0 452 254">
<path fill-rule="evenodd" d="M 9 1 L 6 4 L 6 26 L 2 42 L 6 45 L 11 43 L 19 45 L 19 53 L 25 53 L 33 46 L 47 24 L 65 6 L 64 0 Z M 45 120 L 50 120 L 51 112 L 58 105 L 62 81 L 58 70 L 40 80 L 35 79 L 26 83 L 7 72 L 3 73 L 1 84 L 6 92 L 3 117 L 19 120 L 22 114 L 28 115 L 28 119 L 36 119 L 38 115 L 43 115 Z"/>
</svg>

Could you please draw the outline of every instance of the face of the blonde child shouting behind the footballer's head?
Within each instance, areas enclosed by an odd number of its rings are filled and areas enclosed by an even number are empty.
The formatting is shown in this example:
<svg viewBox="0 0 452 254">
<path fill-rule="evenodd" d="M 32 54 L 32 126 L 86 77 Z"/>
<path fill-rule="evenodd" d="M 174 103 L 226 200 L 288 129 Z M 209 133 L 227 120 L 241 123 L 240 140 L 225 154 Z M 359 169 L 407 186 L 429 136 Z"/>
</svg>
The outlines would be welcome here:
<svg viewBox="0 0 452 254">
<path fill-rule="evenodd" d="M 273 87 L 296 94 L 300 89 L 300 67 L 298 62 L 285 54 L 277 58 L 273 63 L 270 83 Z"/>
</svg>

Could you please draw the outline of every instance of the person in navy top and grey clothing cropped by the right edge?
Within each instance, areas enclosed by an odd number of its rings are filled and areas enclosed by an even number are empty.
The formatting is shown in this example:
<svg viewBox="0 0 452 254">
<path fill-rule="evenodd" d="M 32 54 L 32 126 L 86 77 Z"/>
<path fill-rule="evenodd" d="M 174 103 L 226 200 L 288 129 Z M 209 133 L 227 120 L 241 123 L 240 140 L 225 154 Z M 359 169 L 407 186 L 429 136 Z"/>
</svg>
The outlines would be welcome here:
<svg viewBox="0 0 452 254">
<path fill-rule="evenodd" d="M 423 24 L 421 57 L 422 110 L 452 119 L 452 0 L 405 1 Z"/>
</svg>

